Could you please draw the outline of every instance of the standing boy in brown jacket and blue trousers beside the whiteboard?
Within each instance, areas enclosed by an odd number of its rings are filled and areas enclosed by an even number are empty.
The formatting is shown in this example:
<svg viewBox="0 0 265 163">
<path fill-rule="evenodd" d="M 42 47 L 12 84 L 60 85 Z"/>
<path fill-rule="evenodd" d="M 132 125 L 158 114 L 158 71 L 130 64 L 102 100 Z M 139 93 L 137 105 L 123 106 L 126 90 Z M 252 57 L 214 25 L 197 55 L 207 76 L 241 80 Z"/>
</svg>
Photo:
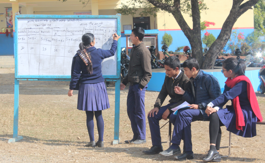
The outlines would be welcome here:
<svg viewBox="0 0 265 163">
<path fill-rule="evenodd" d="M 129 70 L 121 83 L 121 90 L 123 90 L 130 82 L 127 96 L 127 114 L 131 121 L 133 138 L 125 141 L 125 143 L 146 143 L 144 97 L 147 83 L 152 77 L 152 70 L 151 54 L 144 45 L 143 37 L 143 28 L 132 29 L 130 38 L 133 47 L 130 54 Z"/>
</svg>

